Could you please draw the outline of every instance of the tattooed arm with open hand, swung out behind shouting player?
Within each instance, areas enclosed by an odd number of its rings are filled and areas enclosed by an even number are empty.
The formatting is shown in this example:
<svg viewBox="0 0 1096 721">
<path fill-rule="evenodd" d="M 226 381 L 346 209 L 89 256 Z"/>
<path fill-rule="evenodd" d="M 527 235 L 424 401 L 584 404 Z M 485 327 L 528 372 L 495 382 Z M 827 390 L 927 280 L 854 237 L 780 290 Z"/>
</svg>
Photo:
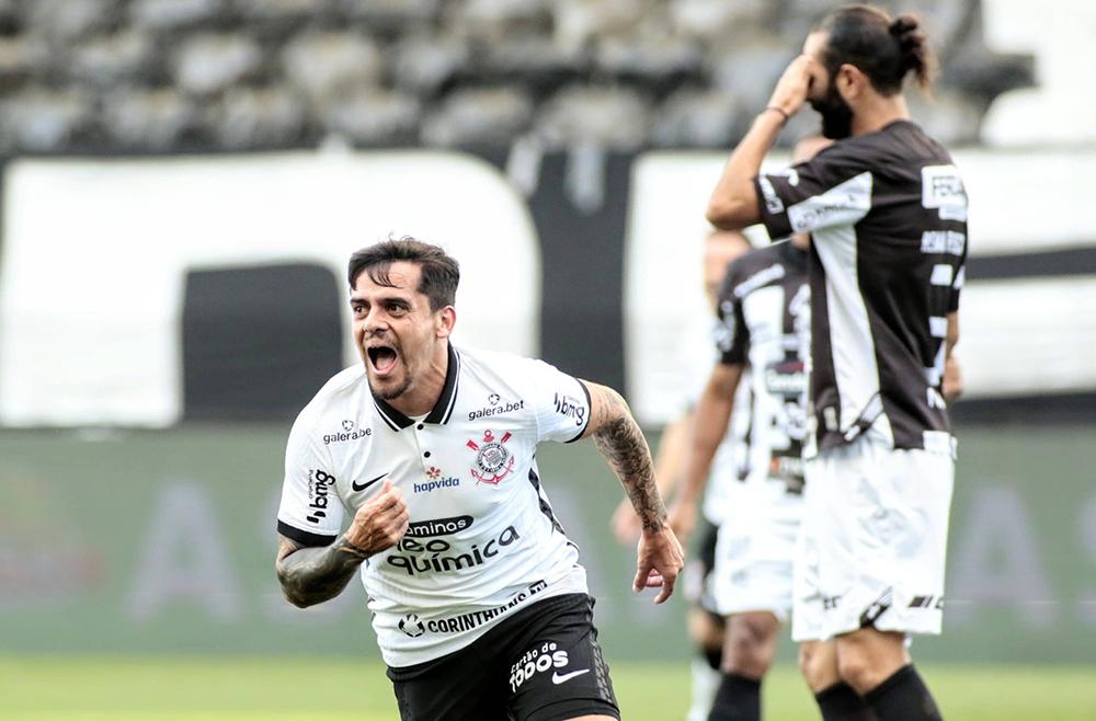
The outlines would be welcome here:
<svg viewBox="0 0 1096 721">
<path fill-rule="evenodd" d="M 654 482 L 647 438 L 618 392 L 585 380 L 582 384 L 590 392 L 590 423 L 582 435 L 594 439 L 620 479 L 643 528 L 633 587 L 637 592 L 661 587 L 654 598 L 661 604 L 673 594 L 685 561 L 681 543 L 666 523 L 666 507 Z"/>
</svg>

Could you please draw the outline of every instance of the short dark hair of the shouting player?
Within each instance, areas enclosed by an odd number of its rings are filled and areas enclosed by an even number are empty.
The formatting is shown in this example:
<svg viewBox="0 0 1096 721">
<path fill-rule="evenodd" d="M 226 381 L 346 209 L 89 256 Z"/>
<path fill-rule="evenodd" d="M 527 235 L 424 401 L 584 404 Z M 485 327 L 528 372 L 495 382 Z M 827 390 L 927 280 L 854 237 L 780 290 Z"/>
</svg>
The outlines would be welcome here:
<svg viewBox="0 0 1096 721">
<path fill-rule="evenodd" d="M 431 245 L 410 236 L 389 238 L 376 245 L 363 248 L 350 256 L 346 278 L 350 287 L 357 283 L 357 276 L 368 271 L 369 279 L 377 285 L 392 287 L 388 271 L 392 263 L 406 261 L 414 263 L 422 272 L 419 293 L 430 298 L 430 309 L 439 310 L 452 306 L 457 299 L 457 284 L 460 283 L 460 266 L 437 245 Z"/>
</svg>

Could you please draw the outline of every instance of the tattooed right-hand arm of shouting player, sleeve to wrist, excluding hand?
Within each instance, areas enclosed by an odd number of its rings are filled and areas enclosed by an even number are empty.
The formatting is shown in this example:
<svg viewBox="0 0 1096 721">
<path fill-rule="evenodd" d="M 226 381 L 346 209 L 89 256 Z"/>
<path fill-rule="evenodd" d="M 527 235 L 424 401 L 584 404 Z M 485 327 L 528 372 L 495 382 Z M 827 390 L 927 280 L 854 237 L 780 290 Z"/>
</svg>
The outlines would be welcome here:
<svg viewBox="0 0 1096 721">
<path fill-rule="evenodd" d="M 605 387 L 598 391 L 598 412 L 591 419 L 597 428 L 592 434 L 594 445 L 624 484 L 643 530 L 657 531 L 666 519 L 666 507 L 654 483 L 647 438 L 619 393 Z"/>
</svg>

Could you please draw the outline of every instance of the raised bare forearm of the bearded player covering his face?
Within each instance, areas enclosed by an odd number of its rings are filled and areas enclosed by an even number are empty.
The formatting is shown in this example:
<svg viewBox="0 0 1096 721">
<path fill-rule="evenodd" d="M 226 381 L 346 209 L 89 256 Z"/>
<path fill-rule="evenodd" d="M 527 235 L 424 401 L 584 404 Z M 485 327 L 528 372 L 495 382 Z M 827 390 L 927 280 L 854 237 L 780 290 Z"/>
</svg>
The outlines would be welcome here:
<svg viewBox="0 0 1096 721">
<path fill-rule="evenodd" d="M 707 217 L 711 225 L 740 230 L 761 221 L 753 179 L 761 172 L 761 163 L 780 134 L 784 119 L 776 111 L 761 113 L 734 148 L 708 201 Z"/>
</svg>

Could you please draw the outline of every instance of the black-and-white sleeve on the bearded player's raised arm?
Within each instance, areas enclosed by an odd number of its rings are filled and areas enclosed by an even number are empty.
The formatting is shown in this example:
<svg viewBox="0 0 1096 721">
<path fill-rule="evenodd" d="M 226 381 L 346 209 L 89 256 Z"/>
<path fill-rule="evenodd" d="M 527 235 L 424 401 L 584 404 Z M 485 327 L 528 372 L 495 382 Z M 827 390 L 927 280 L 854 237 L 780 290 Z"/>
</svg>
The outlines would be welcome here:
<svg viewBox="0 0 1096 721">
<path fill-rule="evenodd" d="M 837 146 L 754 184 L 770 238 L 853 225 L 871 208 L 871 172 Z"/>
</svg>

